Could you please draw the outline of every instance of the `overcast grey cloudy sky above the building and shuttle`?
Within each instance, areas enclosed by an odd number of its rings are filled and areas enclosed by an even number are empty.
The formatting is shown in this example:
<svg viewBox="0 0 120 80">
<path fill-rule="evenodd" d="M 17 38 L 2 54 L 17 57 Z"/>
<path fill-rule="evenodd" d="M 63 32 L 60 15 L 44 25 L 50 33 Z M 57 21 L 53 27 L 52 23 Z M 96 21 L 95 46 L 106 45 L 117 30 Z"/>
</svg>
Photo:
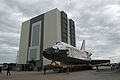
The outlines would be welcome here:
<svg viewBox="0 0 120 80">
<path fill-rule="evenodd" d="M 0 0 L 0 63 L 16 61 L 22 22 L 54 8 L 75 21 L 78 48 L 120 61 L 120 0 Z"/>
</svg>

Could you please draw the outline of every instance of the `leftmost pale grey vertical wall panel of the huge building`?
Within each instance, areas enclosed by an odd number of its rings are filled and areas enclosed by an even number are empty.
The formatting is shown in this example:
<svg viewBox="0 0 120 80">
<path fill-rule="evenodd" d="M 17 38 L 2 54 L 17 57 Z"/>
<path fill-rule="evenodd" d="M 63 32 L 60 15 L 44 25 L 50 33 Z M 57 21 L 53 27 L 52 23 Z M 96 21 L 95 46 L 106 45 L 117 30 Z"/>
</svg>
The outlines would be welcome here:
<svg viewBox="0 0 120 80">
<path fill-rule="evenodd" d="M 22 23 L 21 28 L 21 37 L 20 37 L 20 46 L 19 46 L 19 57 L 18 62 L 19 64 L 26 64 L 28 60 L 28 40 L 29 40 L 29 27 L 30 27 L 30 20 L 25 21 Z"/>
</svg>

